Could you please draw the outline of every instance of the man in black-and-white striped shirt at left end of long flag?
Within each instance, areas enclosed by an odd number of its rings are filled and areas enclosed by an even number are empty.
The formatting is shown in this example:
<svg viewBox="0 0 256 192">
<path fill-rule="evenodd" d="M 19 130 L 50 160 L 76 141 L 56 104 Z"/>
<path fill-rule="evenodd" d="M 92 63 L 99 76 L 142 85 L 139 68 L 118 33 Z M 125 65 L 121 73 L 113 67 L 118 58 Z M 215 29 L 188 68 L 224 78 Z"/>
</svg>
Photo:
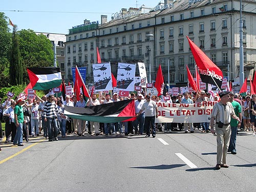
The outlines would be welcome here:
<svg viewBox="0 0 256 192">
<path fill-rule="evenodd" d="M 64 114 L 59 111 L 56 103 L 54 102 L 54 95 L 49 95 L 49 101 L 44 106 L 44 119 L 47 122 L 49 141 L 53 141 L 53 137 L 58 141 L 58 126 L 57 126 L 57 114 L 63 116 Z"/>
</svg>

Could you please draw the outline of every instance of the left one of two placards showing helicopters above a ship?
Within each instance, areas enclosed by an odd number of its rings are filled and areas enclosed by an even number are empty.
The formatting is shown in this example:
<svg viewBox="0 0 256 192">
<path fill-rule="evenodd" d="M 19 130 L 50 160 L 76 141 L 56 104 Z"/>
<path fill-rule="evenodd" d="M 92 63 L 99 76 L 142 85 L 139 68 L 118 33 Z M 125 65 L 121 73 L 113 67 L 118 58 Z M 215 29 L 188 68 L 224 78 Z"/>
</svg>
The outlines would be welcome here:
<svg viewBox="0 0 256 192">
<path fill-rule="evenodd" d="M 96 91 L 112 90 L 110 62 L 93 64 L 93 77 Z"/>
</svg>

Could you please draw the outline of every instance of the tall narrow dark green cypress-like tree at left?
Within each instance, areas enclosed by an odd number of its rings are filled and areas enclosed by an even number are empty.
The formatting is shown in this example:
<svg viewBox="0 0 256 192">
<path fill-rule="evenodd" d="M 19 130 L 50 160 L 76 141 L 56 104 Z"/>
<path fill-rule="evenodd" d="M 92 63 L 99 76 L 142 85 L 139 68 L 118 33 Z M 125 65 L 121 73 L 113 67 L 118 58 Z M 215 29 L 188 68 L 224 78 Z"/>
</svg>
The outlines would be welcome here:
<svg viewBox="0 0 256 192">
<path fill-rule="evenodd" d="M 19 51 L 19 37 L 17 35 L 17 26 L 14 25 L 12 32 L 12 49 L 10 54 L 10 84 L 16 86 L 23 84 L 23 67 Z"/>
</svg>

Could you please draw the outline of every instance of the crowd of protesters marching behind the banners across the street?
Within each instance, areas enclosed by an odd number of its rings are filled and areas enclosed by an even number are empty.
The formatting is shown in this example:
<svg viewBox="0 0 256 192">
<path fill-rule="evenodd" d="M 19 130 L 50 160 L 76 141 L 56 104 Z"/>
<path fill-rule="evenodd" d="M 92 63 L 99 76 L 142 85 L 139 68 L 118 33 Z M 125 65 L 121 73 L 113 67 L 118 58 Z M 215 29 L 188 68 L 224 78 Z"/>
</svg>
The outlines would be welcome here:
<svg viewBox="0 0 256 192">
<path fill-rule="evenodd" d="M 168 94 L 166 93 L 165 96 L 168 96 Z M 153 123 L 155 117 L 157 118 L 158 116 L 155 102 L 197 103 L 202 101 L 219 101 L 220 98 L 218 95 L 212 97 L 210 93 L 201 91 L 192 94 L 186 92 L 177 96 L 170 96 L 169 100 L 164 100 L 155 95 L 146 95 L 144 92 L 138 95 L 130 93 L 129 97 L 118 97 L 117 93 L 113 93 L 112 98 L 110 94 L 99 93 L 98 98 L 96 94 L 93 94 L 87 102 L 83 99 L 83 95 L 80 95 L 79 99 L 76 96 L 67 95 L 64 99 L 62 101 L 60 98 L 54 97 L 54 95 L 39 98 L 36 94 L 34 99 L 28 99 L 27 101 L 16 97 L 15 99 L 5 99 L 2 102 L 0 98 L 0 118 L 2 120 L 4 116 L 9 117 L 9 121 L 5 123 L 5 142 L 12 142 L 14 145 L 23 146 L 23 140 L 29 142 L 29 137 L 43 135 L 49 141 L 53 141 L 58 140 L 59 134 L 61 134 L 62 138 L 70 134 L 77 134 L 78 136 L 88 134 L 92 136 L 145 134 L 148 137 L 150 136 L 150 128 L 152 136 L 155 137 L 157 131 L 162 131 L 162 126 L 164 126 L 165 133 L 173 131 L 194 133 L 196 129 L 203 133 L 209 133 L 210 124 L 208 122 Z M 113 123 L 87 122 L 80 119 L 72 119 L 63 114 L 66 105 L 84 108 L 86 106 L 118 102 L 124 99 L 135 99 L 136 120 Z M 237 93 L 230 93 L 230 102 L 237 102 L 241 106 L 242 119 L 238 126 L 232 129 L 232 139 L 236 139 L 234 133 L 237 134 L 237 128 L 240 128 L 241 131 L 252 131 L 252 135 L 255 135 L 256 95 L 242 97 Z M 237 104 L 235 103 L 234 106 L 237 106 Z M 21 111 L 24 111 L 24 113 L 21 114 Z M 2 126 L 0 128 L 0 139 L 2 140 Z M 234 154 L 236 153 L 235 142 L 232 143 L 233 148 L 230 150 Z"/>
</svg>

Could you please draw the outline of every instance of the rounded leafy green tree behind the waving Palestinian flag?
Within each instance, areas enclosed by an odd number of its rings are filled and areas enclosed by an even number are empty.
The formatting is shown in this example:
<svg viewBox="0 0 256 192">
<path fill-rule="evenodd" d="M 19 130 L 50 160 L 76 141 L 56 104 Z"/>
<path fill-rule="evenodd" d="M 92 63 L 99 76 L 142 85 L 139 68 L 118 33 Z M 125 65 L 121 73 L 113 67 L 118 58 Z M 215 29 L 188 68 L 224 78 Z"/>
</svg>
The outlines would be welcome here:
<svg viewBox="0 0 256 192">
<path fill-rule="evenodd" d="M 28 83 L 27 67 L 50 67 L 53 66 L 54 54 L 51 41 L 43 34 L 36 35 L 33 30 L 21 30 L 20 54 L 24 67 L 24 82 Z"/>
</svg>

